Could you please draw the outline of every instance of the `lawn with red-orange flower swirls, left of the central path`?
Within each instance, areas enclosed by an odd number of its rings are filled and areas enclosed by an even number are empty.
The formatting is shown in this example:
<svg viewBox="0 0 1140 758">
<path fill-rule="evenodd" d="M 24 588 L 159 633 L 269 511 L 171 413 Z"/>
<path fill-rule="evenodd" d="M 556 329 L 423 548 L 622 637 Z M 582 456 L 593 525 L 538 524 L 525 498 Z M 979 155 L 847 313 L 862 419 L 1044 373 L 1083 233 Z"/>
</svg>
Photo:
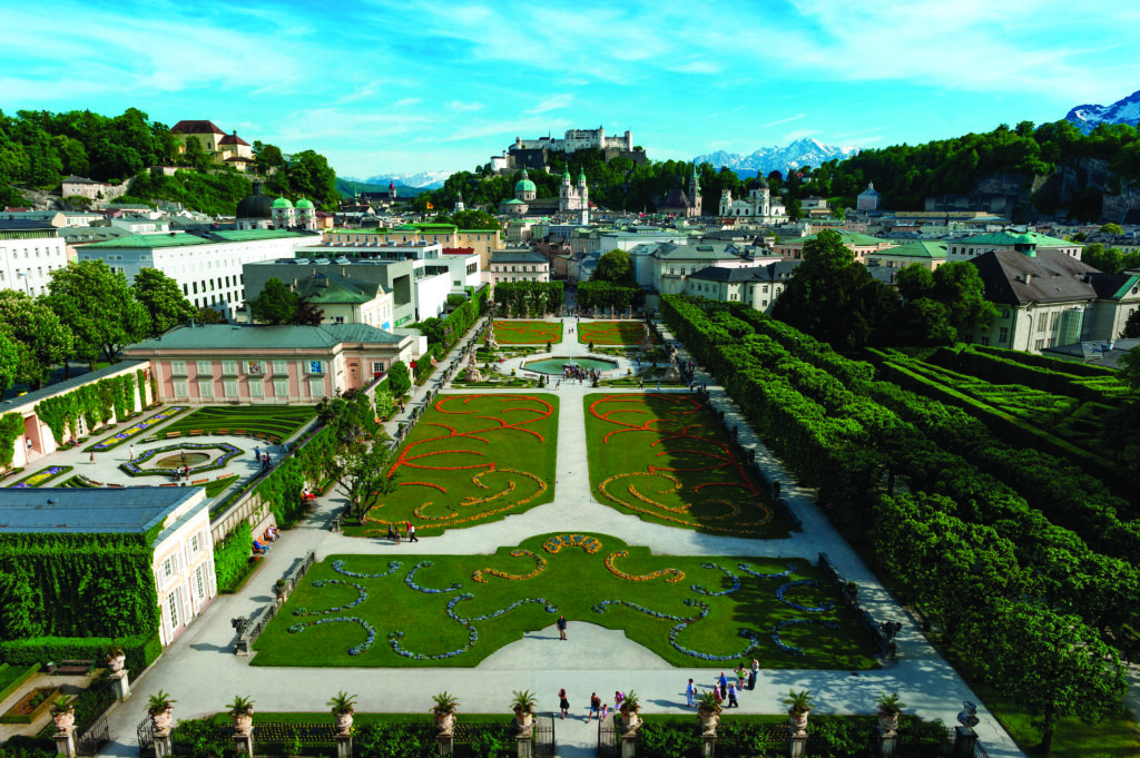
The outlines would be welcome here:
<svg viewBox="0 0 1140 758">
<path fill-rule="evenodd" d="M 389 470 L 396 491 L 349 535 L 418 535 L 475 525 L 554 499 L 559 401 L 554 394 L 447 394 L 408 434 Z"/>
</svg>

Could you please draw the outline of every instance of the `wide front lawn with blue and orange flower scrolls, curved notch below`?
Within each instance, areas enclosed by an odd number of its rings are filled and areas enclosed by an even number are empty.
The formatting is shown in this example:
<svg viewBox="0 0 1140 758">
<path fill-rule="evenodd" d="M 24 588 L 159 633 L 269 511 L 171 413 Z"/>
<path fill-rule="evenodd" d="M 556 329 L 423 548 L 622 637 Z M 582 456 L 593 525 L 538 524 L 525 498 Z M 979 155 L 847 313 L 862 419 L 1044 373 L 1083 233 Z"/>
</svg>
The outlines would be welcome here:
<svg viewBox="0 0 1140 758">
<path fill-rule="evenodd" d="M 653 556 L 585 533 L 531 537 L 495 555 L 409 547 L 316 564 L 258 639 L 253 663 L 475 666 L 524 631 L 545 629 L 556 645 L 562 613 L 621 629 L 686 668 L 752 658 L 765 668 L 877 665 L 857 621 L 831 608 L 839 598 L 804 559 Z"/>
</svg>

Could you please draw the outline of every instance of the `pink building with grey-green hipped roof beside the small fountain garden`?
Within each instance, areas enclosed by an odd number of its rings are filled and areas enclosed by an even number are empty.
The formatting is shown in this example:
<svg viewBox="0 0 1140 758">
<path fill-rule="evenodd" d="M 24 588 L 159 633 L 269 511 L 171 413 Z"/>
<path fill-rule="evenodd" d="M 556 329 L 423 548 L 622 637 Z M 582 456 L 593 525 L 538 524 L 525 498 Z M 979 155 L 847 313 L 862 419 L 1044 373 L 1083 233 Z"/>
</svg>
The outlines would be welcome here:
<svg viewBox="0 0 1140 758">
<path fill-rule="evenodd" d="M 416 339 L 367 324 L 176 328 L 123 356 L 150 361 L 163 401 L 308 404 L 383 377 L 415 358 Z"/>
</svg>

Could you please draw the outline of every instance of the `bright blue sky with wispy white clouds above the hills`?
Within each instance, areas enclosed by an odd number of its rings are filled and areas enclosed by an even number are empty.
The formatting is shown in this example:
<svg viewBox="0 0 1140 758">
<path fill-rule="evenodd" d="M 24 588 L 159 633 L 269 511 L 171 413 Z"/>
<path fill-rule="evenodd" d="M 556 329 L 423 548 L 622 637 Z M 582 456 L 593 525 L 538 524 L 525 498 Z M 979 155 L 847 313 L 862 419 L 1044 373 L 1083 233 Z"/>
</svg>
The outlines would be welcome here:
<svg viewBox="0 0 1140 758">
<path fill-rule="evenodd" d="M 357 178 L 598 125 L 657 160 L 883 147 L 1118 100 L 1138 24 L 1117 0 L 3 2 L 0 109 L 207 119 Z"/>
</svg>

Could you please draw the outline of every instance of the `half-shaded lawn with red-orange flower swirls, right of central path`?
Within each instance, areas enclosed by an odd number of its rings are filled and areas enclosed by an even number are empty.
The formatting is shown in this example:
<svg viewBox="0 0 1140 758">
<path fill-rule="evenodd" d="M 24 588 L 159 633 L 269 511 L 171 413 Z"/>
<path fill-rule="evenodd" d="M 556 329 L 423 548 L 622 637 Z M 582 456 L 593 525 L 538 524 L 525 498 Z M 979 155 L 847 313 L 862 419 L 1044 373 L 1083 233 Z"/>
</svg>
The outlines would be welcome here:
<svg viewBox="0 0 1140 758">
<path fill-rule="evenodd" d="M 595 497 L 624 512 L 715 535 L 783 538 L 788 527 L 720 422 L 692 394 L 587 394 Z"/>
</svg>

